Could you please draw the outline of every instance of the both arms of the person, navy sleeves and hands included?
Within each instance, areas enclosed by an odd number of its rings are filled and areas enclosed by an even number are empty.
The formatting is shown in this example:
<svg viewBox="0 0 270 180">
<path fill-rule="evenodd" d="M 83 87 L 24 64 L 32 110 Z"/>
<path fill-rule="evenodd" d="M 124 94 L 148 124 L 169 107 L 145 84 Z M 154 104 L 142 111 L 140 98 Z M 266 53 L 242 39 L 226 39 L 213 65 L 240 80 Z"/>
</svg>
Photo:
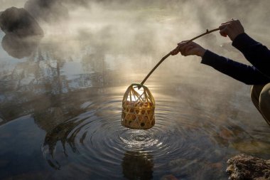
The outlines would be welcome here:
<svg viewBox="0 0 270 180">
<path fill-rule="evenodd" d="M 232 45 L 244 53 L 247 60 L 256 68 L 206 51 L 205 48 L 202 48 L 202 46 L 194 42 L 186 43 L 186 41 L 183 41 L 179 43 L 178 48 L 175 48 L 171 54 L 175 55 L 180 52 L 182 55 L 198 55 L 202 57 L 201 63 L 210 65 L 221 73 L 225 73 L 249 85 L 269 83 L 270 51 L 265 46 L 249 38 L 249 36 L 244 33 L 244 28 L 238 20 L 232 19 L 226 23 L 222 23 L 219 28 L 220 34 L 222 36 L 229 36 L 233 41 Z M 252 51 L 253 49 L 254 51 Z M 262 63 L 264 65 L 259 63 L 262 60 L 265 61 Z"/>
</svg>

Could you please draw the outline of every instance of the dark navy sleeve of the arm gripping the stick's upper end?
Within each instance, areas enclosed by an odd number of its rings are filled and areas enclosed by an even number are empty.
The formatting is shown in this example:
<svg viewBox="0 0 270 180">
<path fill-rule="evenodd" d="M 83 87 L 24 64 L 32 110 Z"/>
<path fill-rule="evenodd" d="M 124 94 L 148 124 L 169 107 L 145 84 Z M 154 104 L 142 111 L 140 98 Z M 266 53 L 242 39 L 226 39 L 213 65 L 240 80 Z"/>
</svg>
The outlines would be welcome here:
<svg viewBox="0 0 270 180">
<path fill-rule="evenodd" d="M 266 46 L 254 41 L 247 33 L 238 35 L 232 46 L 241 51 L 257 70 L 270 78 L 270 51 Z"/>
</svg>

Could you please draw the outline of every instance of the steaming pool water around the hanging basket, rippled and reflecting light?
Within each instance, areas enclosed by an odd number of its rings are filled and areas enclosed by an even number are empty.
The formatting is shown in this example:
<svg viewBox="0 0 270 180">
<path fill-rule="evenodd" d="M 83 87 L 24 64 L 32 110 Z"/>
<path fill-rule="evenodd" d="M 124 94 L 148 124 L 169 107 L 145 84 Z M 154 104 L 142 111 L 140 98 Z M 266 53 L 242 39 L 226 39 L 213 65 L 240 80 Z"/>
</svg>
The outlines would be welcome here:
<svg viewBox="0 0 270 180">
<path fill-rule="evenodd" d="M 269 127 L 250 87 L 198 57 L 169 57 L 146 82 L 156 100 L 153 128 L 121 127 L 126 88 L 177 42 L 154 43 L 175 31 L 175 14 L 147 11 L 136 29 L 127 28 L 132 14 L 117 26 L 101 18 L 93 28 L 90 19 L 83 31 L 48 28 L 38 47 L 25 46 L 28 55 L 0 47 L 0 179 L 227 179 L 226 162 L 235 154 L 270 159 Z M 165 29 L 156 36 L 153 26 Z M 202 41 L 242 58 L 213 39 Z"/>
</svg>

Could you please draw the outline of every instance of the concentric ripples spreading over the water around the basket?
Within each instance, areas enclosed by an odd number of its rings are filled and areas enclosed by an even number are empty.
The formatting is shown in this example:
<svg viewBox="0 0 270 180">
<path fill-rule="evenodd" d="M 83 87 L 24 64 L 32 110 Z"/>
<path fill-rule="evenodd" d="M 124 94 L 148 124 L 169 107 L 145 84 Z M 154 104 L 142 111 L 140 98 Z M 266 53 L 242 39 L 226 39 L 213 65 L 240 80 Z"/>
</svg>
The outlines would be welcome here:
<svg viewBox="0 0 270 180">
<path fill-rule="evenodd" d="M 148 130 L 121 126 L 120 94 L 86 103 L 85 113 L 46 135 L 45 159 L 54 169 L 65 169 L 61 175 L 65 178 L 80 174 L 82 179 L 152 179 L 169 172 L 192 179 L 198 174 L 190 169 L 202 169 L 222 158 L 216 127 L 205 113 L 202 118 L 171 97 L 157 96 L 156 125 Z"/>
</svg>

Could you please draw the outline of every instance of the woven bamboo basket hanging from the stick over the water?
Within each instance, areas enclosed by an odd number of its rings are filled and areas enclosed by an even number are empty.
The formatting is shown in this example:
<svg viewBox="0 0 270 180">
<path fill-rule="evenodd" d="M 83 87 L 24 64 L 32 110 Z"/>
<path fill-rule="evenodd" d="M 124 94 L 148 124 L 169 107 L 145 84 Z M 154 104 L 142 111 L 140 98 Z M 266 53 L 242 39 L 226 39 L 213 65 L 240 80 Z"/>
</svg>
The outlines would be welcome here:
<svg viewBox="0 0 270 180">
<path fill-rule="evenodd" d="M 155 125 L 155 100 L 141 84 L 131 84 L 122 101 L 121 125 L 131 129 L 150 129 Z"/>
</svg>

